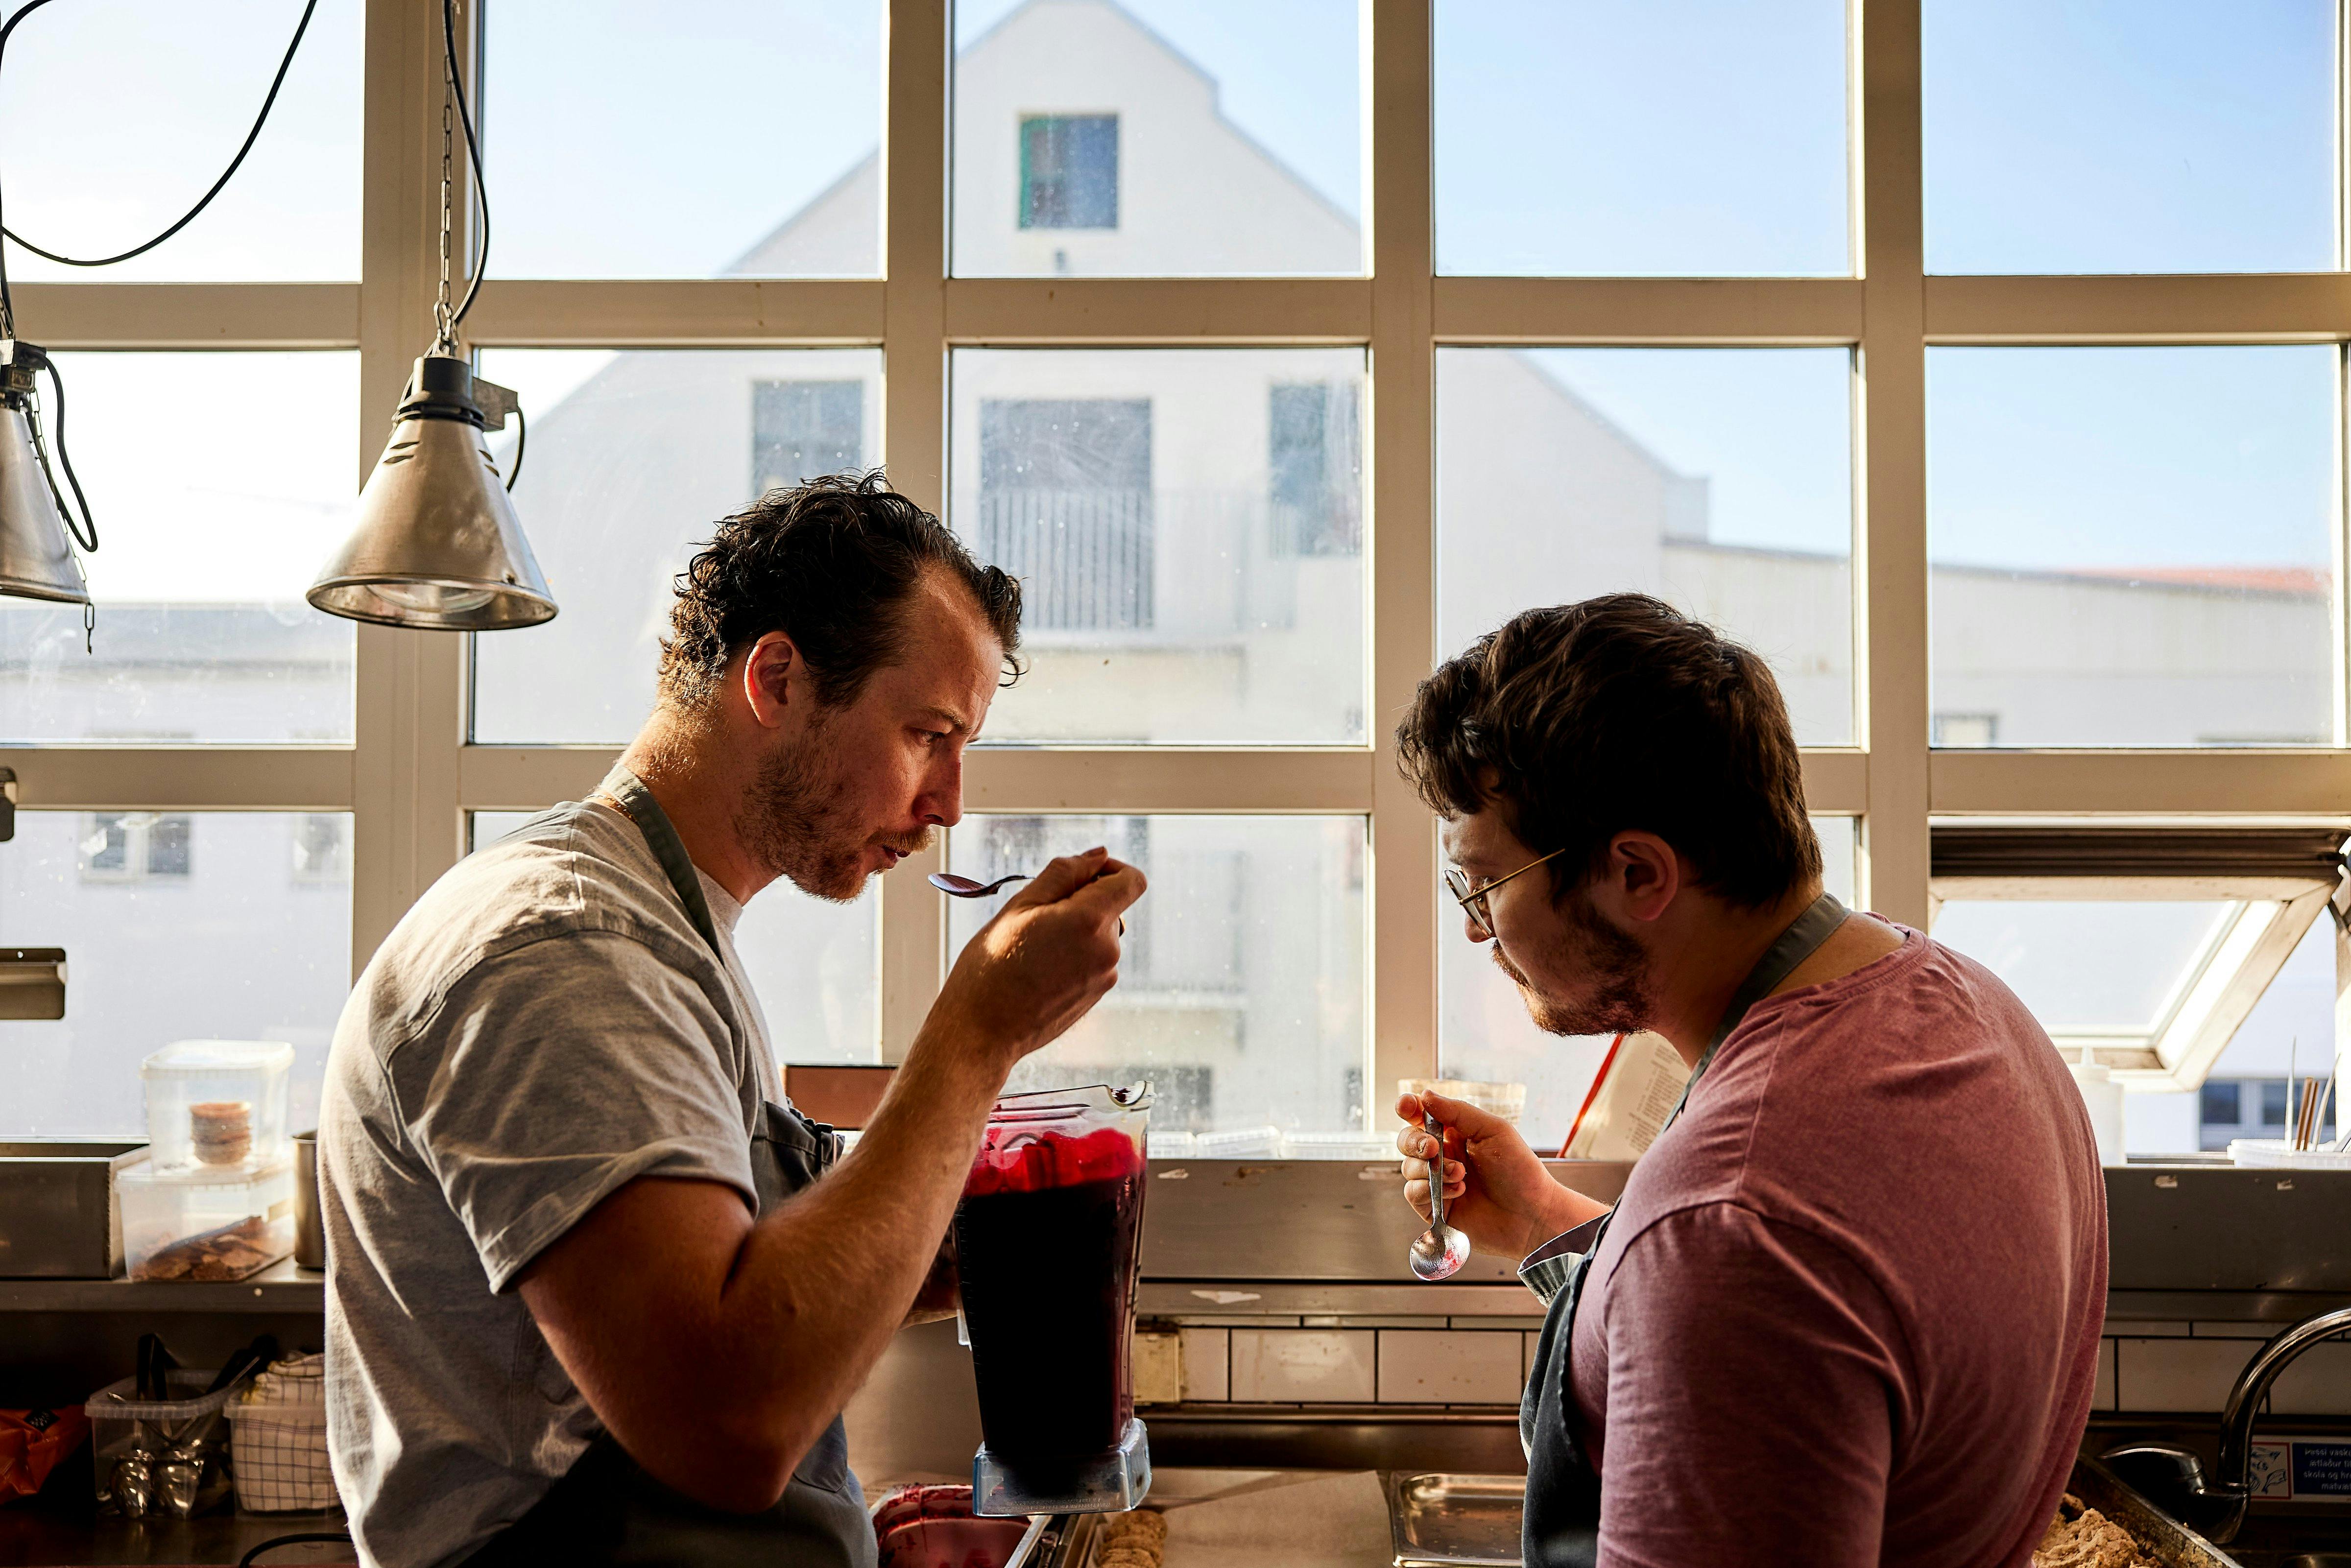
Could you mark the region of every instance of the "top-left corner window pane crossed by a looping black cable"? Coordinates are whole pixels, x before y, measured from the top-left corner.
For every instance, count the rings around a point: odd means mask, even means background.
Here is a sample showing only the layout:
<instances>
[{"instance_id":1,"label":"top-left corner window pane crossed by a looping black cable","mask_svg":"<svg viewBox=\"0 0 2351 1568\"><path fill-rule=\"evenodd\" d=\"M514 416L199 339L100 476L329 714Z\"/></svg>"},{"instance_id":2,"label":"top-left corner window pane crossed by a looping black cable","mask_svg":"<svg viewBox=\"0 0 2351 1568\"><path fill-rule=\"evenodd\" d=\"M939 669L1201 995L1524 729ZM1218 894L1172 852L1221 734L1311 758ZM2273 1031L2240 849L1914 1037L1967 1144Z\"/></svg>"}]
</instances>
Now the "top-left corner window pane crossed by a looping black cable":
<instances>
[{"instance_id":1,"label":"top-left corner window pane crossed by a looping black cable","mask_svg":"<svg viewBox=\"0 0 2351 1568\"><path fill-rule=\"evenodd\" d=\"M54 5L9 40L7 223L115 256L176 223L261 113L303 0ZM21 5L0 5L16 14ZM310 16L270 122L188 228L99 273L9 247L12 282L322 282L360 275L360 12ZM47 343L26 317L26 336Z\"/></svg>"}]
</instances>

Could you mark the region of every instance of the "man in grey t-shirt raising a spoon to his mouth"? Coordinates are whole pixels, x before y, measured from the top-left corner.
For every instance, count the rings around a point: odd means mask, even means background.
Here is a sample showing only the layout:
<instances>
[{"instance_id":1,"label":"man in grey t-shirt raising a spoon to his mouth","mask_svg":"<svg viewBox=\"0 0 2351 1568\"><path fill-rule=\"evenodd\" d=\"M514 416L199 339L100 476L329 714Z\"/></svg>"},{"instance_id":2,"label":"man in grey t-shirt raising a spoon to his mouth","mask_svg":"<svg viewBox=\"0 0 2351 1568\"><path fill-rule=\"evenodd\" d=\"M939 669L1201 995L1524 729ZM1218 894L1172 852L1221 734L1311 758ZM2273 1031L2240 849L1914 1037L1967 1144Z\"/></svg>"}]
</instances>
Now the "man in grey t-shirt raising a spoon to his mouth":
<instances>
[{"instance_id":1,"label":"man in grey t-shirt raising a spoon to his mouth","mask_svg":"<svg viewBox=\"0 0 2351 1568\"><path fill-rule=\"evenodd\" d=\"M781 1103L734 924L955 825L1020 590L851 475L724 520L670 625L597 792L428 889L336 1027L327 1418L367 1563L870 1568L842 1406L952 1302L1006 1074L1117 980L1140 872L1053 860L839 1157Z\"/></svg>"}]
</instances>

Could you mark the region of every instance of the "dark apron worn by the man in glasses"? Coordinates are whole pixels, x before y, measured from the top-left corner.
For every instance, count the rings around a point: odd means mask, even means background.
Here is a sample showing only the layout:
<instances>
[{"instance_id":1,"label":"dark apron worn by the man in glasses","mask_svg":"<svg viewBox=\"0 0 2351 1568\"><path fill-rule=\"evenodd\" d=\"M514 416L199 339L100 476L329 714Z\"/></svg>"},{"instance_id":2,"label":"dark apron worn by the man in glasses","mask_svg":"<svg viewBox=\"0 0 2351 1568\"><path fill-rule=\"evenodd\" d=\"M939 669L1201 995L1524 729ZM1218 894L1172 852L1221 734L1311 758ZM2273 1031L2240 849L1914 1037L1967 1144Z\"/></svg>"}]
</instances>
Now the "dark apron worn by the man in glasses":
<instances>
[{"instance_id":1,"label":"dark apron worn by the man in glasses","mask_svg":"<svg viewBox=\"0 0 2351 1568\"><path fill-rule=\"evenodd\" d=\"M1681 1117L1697 1079L1704 1077L1730 1030L1747 1018L1747 1009L1787 980L1841 924L1846 924L1846 905L1822 893L1756 959L1730 997L1730 1006L1723 1009L1723 1020L1714 1025L1714 1039L1697 1058L1697 1067L1665 1126L1674 1126L1674 1119ZM1665 1128L1657 1128L1657 1135L1665 1138ZM1542 1335L1535 1340L1535 1371L1519 1401L1519 1443L1526 1448L1526 1523L1521 1526L1519 1554L1526 1568L1587 1568L1599 1561L1601 1552L1601 1479L1592 1469L1582 1436L1578 1436L1570 1347L1575 1342L1575 1305L1585 1295L1592 1258L1601 1251L1601 1237L1608 1234L1613 1215L1615 1211L1608 1211L1568 1232L1575 1267L1542 1319Z\"/></svg>"}]
</instances>

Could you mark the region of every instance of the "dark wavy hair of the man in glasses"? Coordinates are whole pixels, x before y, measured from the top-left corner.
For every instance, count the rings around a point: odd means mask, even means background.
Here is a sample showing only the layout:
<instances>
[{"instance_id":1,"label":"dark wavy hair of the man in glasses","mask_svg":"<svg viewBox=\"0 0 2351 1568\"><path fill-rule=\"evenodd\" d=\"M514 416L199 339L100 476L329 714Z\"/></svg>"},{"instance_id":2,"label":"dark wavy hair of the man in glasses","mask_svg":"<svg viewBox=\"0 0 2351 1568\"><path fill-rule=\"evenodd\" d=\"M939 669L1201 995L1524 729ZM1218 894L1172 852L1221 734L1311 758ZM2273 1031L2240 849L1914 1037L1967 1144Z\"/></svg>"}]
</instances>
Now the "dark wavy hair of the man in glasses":
<instances>
[{"instance_id":1,"label":"dark wavy hair of the man in glasses","mask_svg":"<svg viewBox=\"0 0 2351 1568\"><path fill-rule=\"evenodd\" d=\"M1500 806L1585 886L1625 830L1761 910L1820 877L1803 764L1763 658L1639 592L1531 609L1436 668L1396 726L1404 776L1446 818Z\"/></svg>"}]
</instances>

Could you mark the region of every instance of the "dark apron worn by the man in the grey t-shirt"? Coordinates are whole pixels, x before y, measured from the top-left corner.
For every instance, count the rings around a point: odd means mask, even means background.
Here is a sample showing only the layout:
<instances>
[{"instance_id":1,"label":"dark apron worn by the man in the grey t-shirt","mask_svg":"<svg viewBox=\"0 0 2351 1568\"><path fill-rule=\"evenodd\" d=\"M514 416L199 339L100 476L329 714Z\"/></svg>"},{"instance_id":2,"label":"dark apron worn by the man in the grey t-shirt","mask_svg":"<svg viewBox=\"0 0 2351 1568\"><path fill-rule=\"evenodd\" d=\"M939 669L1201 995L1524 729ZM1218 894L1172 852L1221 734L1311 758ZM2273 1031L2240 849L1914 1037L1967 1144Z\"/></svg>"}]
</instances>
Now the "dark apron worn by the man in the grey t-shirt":
<instances>
[{"instance_id":1,"label":"dark apron worn by the man in the grey t-shirt","mask_svg":"<svg viewBox=\"0 0 2351 1568\"><path fill-rule=\"evenodd\" d=\"M710 903L670 818L635 773L614 771L604 795L644 832L694 929L724 969ZM764 1103L750 1140L759 1215L820 1178L837 1152L839 1140L830 1126L809 1121L788 1105ZM609 1432L600 1432L548 1495L468 1556L465 1568L875 1568L877 1559L865 1493L849 1474L849 1432L835 1415L792 1472L783 1497L759 1514L729 1514L663 1486Z\"/></svg>"}]
</instances>

